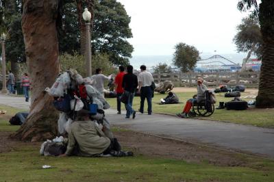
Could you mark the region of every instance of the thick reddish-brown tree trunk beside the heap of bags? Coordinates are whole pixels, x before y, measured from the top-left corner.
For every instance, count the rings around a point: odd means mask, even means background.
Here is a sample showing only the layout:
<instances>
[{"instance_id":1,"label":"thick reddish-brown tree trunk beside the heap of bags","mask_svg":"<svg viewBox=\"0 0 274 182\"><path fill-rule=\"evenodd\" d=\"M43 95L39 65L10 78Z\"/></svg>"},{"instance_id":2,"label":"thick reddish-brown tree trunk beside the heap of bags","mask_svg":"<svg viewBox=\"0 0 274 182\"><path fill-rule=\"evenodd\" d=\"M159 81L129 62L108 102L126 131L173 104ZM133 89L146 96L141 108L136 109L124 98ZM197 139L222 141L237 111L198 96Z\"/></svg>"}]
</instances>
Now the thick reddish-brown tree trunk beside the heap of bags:
<instances>
[{"instance_id":1,"label":"thick reddish-brown tree trunk beside the heap of bags","mask_svg":"<svg viewBox=\"0 0 274 182\"><path fill-rule=\"evenodd\" d=\"M24 125L13 135L32 142L53 138L58 134L58 113L51 96L43 90L58 75L57 0L23 1L22 29L25 53L32 83L32 105Z\"/></svg>"}]
</instances>

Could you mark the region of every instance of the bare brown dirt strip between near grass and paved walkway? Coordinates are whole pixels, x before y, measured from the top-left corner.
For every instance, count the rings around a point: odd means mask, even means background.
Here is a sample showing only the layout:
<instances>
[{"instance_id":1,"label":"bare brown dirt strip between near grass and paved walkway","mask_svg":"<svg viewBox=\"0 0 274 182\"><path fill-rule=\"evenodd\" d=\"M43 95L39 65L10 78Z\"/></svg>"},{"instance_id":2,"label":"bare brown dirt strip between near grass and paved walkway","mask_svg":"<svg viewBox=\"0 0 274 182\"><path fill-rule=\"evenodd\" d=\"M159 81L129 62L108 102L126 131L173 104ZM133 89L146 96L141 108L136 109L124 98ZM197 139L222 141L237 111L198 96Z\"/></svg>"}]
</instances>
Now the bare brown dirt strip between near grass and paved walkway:
<instances>
[{"instance_id":1,"label":"bare brown dirt strip between near grass and paved walkway","mask_svg":"<svg viewBox=\"0 0 274 182\"><path fill-rule=\"evenodd\" d=\"M247 166L247 160L237 157L236 153L204 145L199 146L188 142L159 138L136 131L118 131L114 135L123 147L131 148L135 153L149 157L194 162L208 161L210 164L218 166Z\"/></svg>"}]
</instances>

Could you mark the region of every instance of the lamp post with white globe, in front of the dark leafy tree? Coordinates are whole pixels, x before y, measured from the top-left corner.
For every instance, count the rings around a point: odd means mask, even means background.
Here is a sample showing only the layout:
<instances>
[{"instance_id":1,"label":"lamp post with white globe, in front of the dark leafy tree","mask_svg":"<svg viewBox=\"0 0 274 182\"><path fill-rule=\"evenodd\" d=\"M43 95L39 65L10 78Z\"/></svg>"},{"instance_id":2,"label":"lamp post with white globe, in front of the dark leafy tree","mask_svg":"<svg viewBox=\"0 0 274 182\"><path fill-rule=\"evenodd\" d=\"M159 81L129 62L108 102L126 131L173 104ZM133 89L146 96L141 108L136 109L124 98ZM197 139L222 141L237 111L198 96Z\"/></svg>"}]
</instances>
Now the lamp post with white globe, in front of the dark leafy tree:
<instances>
[{"instance_id":1,"label":"lamp post with white globe, in front of the dark leafy tree","mask_svg":"<svg viewBox=\"0 0 274 182\"><path fill-rule=\"evenodd\" d=\"M88 8L85 8L83 12L84 21L86 21L86 74L91 77L91 47L90 47L90 19L91 14Z\"/></svg>"}]
</instances>

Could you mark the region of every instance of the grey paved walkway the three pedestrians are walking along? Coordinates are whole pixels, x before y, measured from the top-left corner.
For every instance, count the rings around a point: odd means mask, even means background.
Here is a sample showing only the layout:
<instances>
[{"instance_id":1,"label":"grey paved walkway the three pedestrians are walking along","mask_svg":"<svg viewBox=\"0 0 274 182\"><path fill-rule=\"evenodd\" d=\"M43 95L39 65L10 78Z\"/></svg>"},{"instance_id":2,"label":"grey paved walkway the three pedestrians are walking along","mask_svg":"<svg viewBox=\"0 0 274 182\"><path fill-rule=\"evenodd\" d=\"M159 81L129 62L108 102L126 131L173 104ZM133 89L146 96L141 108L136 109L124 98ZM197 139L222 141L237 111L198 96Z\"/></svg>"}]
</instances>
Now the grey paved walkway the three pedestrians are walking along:
<instances>
[{"instance_id":1,"label":"grey paved walkway the three pedestrians are walking along","mask_svg":"<svg viewBox=\"0 0 274 182\"><path fill-rule=\"evenodd\" d=\"M0 95L0 104L29 108L23 98ZM125 113L106 110L112 125L127 125L134 131L165 135L190 142L203 142L236 151L258 153L274 158L274 129L236 125L211 120L183 119L162 114L137 114L133 120L125 119Z\"/></svg>"}]
</instances>

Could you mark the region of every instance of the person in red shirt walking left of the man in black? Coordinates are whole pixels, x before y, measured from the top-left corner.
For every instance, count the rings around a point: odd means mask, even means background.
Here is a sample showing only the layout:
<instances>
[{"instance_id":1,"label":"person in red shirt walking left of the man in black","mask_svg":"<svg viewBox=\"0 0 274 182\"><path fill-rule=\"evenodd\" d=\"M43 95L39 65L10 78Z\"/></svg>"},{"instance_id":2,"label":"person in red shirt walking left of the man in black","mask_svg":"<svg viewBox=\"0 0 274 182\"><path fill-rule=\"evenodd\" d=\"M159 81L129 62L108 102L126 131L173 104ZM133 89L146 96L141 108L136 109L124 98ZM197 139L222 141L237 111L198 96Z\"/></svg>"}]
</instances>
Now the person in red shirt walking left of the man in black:
<instances>
[{"instance_id":1,"label":"person in red shirt walking left of the man in black","mask_svg":"<svg viewBox=\"0 0 274 182\"><path fill-rule=\"evenodd\" d=\"M119 66L119 73L115 77L116 97L117 97L117 114L121 114L120 97L124 92L124 89L123 89L123 86L122 86L124 75L125 75L125 67L124 66Z\"/></svg>"}]
</instances>

